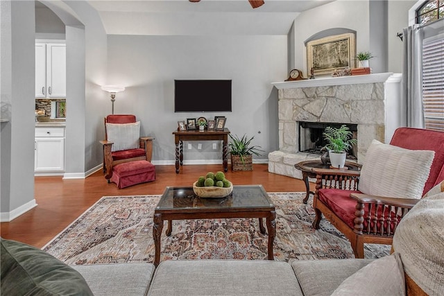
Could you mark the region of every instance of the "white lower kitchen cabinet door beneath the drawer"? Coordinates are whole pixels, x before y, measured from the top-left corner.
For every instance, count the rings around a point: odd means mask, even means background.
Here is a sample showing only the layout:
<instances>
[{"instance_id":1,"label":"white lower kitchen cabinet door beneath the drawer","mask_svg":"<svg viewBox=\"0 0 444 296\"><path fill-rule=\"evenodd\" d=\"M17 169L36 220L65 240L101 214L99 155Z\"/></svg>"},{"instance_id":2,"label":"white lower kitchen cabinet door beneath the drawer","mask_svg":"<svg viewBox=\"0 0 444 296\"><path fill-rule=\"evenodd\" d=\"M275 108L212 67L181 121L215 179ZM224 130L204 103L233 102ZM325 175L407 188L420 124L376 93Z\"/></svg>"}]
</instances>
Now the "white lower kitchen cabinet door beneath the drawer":
<instances>
[{"instance_id":1,"label":"white lower kitchen cabinet door beneath the drawer","mask_svg":"<svg viewBox=\"0 0 444 296\"><path fill-rule=\"evenodd\" d=\"M65 171L65 139L35 138L35 171Z\"/></svg>"}]
</instances>

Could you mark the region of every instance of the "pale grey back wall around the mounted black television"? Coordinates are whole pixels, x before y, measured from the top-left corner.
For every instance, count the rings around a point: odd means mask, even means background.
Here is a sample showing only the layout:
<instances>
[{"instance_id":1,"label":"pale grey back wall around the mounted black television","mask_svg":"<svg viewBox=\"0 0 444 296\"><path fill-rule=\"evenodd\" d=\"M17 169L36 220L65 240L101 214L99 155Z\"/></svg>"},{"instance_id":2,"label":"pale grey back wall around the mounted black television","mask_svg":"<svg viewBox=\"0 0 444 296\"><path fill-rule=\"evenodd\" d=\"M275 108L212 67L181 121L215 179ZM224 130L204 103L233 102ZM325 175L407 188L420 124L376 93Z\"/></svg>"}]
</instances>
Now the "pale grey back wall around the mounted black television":
<instances>
[{"instance_id":1,"label":"pale grey back wall around the mounted black television","mask_svg":"<svg viewBox=\"0 0 444 296\"><path fill-rule=\"evenodd\" d=\"M177 121L226 116L226 128L254 136L262 157L278 148L278 96L271 82L287 78L287 36L108 36L108 84L126 86L114 113L135 114L142 133L155 137L153 162L172 164ZM232 79L233 112L174 113L174 79ZM211 96L211 94L209 94ZM103 105L108 112L111 103ZM103 124L102 124L103 125ZM221 162L212 141L185 147L184 161ZM206 159L206 160L205 160ZM159 163L159 162L157 162Z\"/></svg>"}]
</instances>

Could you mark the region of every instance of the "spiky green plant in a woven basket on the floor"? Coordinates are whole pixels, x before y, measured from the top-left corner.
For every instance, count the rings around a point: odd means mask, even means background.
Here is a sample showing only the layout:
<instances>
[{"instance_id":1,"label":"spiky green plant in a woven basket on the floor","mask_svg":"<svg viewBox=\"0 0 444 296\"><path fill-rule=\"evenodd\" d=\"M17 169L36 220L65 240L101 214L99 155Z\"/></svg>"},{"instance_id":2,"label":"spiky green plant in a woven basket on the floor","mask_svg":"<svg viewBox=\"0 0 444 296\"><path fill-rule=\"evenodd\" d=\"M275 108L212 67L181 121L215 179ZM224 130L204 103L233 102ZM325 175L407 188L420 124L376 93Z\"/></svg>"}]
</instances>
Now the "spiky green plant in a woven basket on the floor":
<instances>
[{"instance_id":1,"label":"spiky green plant in a woven basket on the floor","mask_svg":"<svg viewBox=\"0 0 444 296\"><path fill-rule=\"evenodd\" d=\"M253 171L253 155L259 156L259 152L264 152L264 150L259 149L260 146L251 145L251 141L255 137L248 139L245 134L241 138L232 134L229 136L228 147L230 148L232 171Z\"/></svg>"}]
</instances>

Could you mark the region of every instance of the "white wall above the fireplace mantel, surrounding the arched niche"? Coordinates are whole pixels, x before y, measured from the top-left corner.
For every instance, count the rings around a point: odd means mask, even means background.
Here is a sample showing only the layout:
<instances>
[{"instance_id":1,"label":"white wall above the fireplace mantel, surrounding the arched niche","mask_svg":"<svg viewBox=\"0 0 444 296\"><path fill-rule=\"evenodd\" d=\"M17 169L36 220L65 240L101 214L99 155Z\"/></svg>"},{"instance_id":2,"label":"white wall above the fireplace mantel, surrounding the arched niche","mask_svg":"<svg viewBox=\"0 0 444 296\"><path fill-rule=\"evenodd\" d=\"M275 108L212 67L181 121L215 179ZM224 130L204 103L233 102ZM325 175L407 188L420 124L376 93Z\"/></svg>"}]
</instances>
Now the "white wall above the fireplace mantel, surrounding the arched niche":
<instances>
[{"instance_id":1,"label":"white wall above the fireplace mantel, surrounding the arched niche","mask_svg":"<svg viewBox=\"0 0 444 296\"><path fill-rule=\"evenodd\" d=\"M418 1L338 0L302 12L294 21L295 67L307 75L304 42L312 35L330 28L356 31L356 50L372 51L374 73L402 72L402 41L396 33L409 26L409 9Z\"/></svg>"}]
</instances>

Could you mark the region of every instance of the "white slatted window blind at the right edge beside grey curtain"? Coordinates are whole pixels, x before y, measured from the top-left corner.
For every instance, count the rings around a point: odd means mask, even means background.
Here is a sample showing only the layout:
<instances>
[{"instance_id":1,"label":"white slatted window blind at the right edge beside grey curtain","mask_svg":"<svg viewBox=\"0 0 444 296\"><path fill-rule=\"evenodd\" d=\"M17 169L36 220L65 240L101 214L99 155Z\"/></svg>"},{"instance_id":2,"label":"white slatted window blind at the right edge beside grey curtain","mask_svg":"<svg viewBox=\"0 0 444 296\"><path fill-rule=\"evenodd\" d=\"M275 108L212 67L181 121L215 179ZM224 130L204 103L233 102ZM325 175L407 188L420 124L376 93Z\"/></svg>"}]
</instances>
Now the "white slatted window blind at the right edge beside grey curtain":
<instances>
[{"instance_id":1,"label":"white slatted window blind at the right edge beside grey curtain","mask_svg":"<svg viewBox=\"0 0 444 296\"><path fill-rule=\"evenodd\" d=\"M422 44L425 128L444 132L444 37Z\"/></svg>"}]
</instances>

